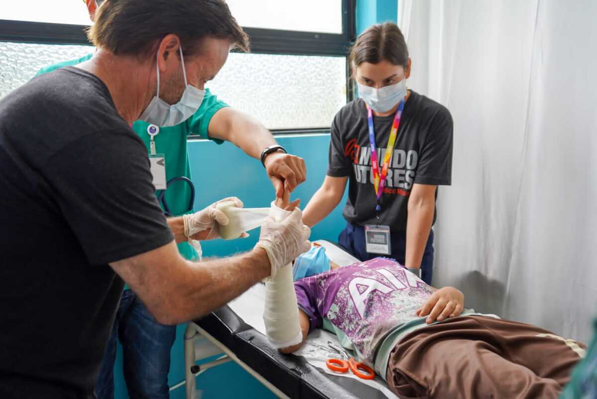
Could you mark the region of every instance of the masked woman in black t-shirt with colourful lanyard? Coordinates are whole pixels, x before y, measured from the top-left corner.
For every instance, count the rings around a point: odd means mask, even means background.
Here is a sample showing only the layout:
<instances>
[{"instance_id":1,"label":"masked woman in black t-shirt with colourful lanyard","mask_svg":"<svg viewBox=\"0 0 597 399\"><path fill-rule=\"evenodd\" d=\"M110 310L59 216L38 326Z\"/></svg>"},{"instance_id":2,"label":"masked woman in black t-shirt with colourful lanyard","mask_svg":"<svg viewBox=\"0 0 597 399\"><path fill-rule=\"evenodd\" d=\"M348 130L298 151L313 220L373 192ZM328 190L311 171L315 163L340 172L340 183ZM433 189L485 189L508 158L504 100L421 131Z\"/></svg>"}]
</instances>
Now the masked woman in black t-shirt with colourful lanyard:
<instances>
[{"instance_id":1,"label":"masked woman in black t-shirt with colourful lanyard","mask_svg":"<svg viewBox=\"0 0 597 399\"><path fill-rule=\"evenodd\" d=\"M334 117L327 176L303 221L324 219L349 182L340 245L361 260L393 257L430 284L437 186L451 183L450 112L407 90L411 59L395 24L361 33L350 63L361 98Z\"/></svg>"}]
</instances>

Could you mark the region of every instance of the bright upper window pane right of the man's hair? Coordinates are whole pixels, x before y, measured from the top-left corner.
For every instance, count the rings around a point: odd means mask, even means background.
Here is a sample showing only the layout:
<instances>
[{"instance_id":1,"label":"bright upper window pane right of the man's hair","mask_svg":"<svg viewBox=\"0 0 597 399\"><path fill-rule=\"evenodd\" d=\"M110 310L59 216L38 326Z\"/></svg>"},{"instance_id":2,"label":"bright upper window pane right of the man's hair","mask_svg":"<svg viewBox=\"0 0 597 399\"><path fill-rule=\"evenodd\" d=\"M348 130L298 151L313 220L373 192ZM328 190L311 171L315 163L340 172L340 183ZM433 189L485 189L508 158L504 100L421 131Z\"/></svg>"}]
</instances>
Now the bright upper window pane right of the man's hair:
<instances>
[{"instance_id":1,"label":"bright upper window pane right of the man's hair","mask_svg":"<svg viewBox=\"0 0 597 399\"><path fill-rule=\"evenodd\" d=\"M241 26L342 33L342 0L227 0Z\"/></svg>"}]
</instances>

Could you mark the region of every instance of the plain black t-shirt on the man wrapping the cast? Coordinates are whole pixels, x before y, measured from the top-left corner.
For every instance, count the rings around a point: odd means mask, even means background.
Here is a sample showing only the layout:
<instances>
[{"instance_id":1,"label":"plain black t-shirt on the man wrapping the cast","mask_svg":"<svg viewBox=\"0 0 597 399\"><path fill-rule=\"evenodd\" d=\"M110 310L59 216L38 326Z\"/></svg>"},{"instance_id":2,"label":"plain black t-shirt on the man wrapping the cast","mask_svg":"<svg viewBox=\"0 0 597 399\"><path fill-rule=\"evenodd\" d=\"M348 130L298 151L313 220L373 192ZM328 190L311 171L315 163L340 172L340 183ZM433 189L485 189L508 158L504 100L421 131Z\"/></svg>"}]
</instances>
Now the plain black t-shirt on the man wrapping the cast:
<instances>
[{"instance_id":1,"label":"plain black t-shirt on the man wrapping the cast","mask_svg":"<svg viewBox=\"0 0 597 399\"><path fill-rule=\"evenodd\" d=\"M141 139L65 67L0 100L0 398L92 398L124 282L173 240Z\"/></svg>"}]
</instances>

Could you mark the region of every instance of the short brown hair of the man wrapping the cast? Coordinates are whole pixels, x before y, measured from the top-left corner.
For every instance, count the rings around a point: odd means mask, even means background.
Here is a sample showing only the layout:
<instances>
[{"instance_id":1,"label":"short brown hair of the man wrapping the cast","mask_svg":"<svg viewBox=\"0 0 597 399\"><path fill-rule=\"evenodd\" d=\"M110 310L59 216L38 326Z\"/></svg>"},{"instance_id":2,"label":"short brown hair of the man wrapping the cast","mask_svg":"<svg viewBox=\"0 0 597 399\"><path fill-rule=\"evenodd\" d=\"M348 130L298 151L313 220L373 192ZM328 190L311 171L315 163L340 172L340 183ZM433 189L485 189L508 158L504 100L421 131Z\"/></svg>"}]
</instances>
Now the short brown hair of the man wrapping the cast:
<instances>
[{"instance_id":1,"label":"short brown hair of the man wrapping the cast","mask_svg":"<svg viewBox=\"0 0 597 399\"><path fill-rule=\"evenodd\" d=\"M207 37L249 49L247 33L223 0L107 0L87 36L113 54L147 57L169 33L179 36L184 54L199 53Z\"/></svg>"}]
</instances>

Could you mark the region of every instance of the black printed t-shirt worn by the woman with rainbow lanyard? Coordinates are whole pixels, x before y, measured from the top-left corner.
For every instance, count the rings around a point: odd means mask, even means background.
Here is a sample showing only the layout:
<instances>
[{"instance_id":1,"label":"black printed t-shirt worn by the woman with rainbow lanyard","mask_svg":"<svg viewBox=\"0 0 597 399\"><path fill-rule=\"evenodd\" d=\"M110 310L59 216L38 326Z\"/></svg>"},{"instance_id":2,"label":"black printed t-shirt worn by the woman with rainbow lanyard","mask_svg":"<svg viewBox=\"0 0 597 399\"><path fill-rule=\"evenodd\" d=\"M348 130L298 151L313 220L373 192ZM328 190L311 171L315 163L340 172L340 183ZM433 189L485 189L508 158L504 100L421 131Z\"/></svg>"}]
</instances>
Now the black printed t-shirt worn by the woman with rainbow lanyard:
<instances>
[{"instance_id":1,"label":"black printed t-shirt worn by the woman with rainbow lanyard","mask_svg":"<svg viewBox=\"0 0 597 399\"><path fill-rule=\"evenodd\" d=\"M410 93L390 159L386 188L381 195L379 220L365 102L356 99L348 103L332 122L327 174L349 176L348 201L343 215L350 223L360 226L378 223L390 226L391 231L404 232L413 185L451 183L453 121L450 111L413 90ZM373 117L380 173L393 119L393 114Z\"/></svg>"}]
</instances>

